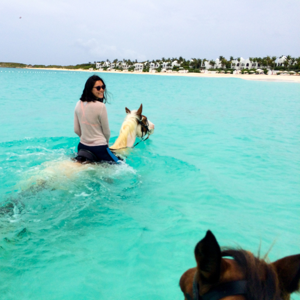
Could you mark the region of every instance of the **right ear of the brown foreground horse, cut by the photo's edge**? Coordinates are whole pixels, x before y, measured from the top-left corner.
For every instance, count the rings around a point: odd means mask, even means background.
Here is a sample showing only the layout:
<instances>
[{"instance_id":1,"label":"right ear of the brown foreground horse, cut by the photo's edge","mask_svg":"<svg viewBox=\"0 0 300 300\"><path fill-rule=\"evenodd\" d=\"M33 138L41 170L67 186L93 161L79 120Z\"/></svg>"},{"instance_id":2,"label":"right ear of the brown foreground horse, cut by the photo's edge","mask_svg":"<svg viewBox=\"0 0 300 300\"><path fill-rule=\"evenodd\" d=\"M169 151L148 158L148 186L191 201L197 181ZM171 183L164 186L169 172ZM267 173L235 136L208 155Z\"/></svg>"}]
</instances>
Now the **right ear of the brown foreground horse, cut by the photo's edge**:
<instances>
[{"instance_id":1,"label":"right ear of the brown foreground horse, cut by the photo's edge","mask_svg":"<svg viewBox=\"0 0 300 300\"><path fill-rule=\"evenodd\" d=\"M300 289L300 254L283 257L272 265L277 271L283 292L292 293Z\"/></svg>"}]
</instances>

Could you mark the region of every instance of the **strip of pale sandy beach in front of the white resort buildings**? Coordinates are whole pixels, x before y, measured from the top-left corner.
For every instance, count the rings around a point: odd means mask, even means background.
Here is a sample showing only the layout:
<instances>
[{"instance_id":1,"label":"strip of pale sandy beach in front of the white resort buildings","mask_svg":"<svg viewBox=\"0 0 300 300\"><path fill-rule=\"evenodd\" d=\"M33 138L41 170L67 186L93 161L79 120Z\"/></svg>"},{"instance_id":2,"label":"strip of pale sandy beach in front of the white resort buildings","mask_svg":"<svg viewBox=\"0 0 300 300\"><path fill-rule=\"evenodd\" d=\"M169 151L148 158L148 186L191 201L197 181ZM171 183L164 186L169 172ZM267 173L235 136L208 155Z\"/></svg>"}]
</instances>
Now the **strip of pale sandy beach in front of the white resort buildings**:
<instances>
[{"instance_id":1,"label":"strip of pale sandy beach in front of the white resort buildings","mask_svg":"<svg viewBox=\"0 0 300 300\"><path fill-rule=\"evenodd\" d=\"M62 68L17 68L23 70L53 70L53 71L74 71L74 72L92 72L92 73L116 73L116 74L144 74L159 76L187 76L187 77L214 77L214 78L241 78L253 81L273 81L273 82L298 82L300 76L295 75L265 75L265 74L221 74L221 73L149 73L149 72L116 72L100 70L83 70L83 69L62 69Z\"/></svg>"}]
</instances>

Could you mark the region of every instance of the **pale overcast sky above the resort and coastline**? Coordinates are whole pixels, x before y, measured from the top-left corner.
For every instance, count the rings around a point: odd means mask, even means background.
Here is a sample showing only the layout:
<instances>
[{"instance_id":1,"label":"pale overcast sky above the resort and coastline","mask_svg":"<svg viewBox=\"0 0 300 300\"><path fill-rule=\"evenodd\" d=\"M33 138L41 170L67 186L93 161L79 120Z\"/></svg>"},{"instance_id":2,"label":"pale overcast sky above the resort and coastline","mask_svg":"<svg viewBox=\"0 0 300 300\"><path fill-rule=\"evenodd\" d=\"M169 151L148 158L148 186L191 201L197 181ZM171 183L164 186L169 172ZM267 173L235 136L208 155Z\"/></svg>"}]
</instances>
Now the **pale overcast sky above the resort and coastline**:
<instances>
[{"instance_id":1,"label":"pale overcast sky above the resort and coastline","mask_svg":"<svg viewBox=\"0 0 300 300\"><path fill-rule=\"evenodd\" d=\"M299 0L1 0L0 61L298 57L299 12Z\"/></svg>"}]
</instances>

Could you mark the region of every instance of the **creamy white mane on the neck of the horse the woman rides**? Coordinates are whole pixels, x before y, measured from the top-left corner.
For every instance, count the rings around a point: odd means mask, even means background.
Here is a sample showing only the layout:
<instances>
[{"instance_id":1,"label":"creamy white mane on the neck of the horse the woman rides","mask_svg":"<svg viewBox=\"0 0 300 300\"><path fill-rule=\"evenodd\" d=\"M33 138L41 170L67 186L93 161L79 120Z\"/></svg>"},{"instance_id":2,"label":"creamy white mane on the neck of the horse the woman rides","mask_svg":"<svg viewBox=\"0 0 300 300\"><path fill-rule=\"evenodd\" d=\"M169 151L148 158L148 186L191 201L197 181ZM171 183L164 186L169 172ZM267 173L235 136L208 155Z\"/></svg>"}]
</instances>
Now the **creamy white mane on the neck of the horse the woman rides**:
<instances>
[{"instance_id":1,"label":"creamy white mane on the neck of the horse the woman rides","mask_svg":"<svg viewBox=\"0 0 300 300\"><path fill-rule=\"evenodd\" d=\"M124 122L120 129L119 137L116 139L113 146L110 149L120 149L127 146L128 134L132 134L137 128L137 110L132 110L124 119Z\"/></svg>"}]
</instances>

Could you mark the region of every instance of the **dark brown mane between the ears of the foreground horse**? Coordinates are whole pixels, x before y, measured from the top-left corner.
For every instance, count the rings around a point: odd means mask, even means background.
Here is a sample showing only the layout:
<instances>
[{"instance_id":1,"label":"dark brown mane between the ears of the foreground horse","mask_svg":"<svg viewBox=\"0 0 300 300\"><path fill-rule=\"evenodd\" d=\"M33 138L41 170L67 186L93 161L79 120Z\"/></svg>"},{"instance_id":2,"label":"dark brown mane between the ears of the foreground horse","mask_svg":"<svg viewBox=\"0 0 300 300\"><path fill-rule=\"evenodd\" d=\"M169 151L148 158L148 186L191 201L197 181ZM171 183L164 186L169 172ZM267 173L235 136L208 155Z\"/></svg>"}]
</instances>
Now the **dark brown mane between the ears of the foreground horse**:
<instances>
[{"instance_id":1,"label":"dark brown mane between the ears of the foreground horse","mask_svg":"<svg viewBox=\"0 0 300 300\"><path fill-rule=\"evenodd\" d=\"M230 256L238 263L247 280L246 299L280 300L277 274L272 265L245 250L223 248L221 256Z\"/></svg>"}]
</instances>

